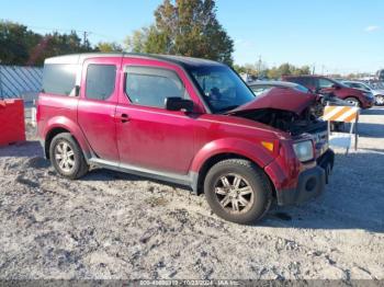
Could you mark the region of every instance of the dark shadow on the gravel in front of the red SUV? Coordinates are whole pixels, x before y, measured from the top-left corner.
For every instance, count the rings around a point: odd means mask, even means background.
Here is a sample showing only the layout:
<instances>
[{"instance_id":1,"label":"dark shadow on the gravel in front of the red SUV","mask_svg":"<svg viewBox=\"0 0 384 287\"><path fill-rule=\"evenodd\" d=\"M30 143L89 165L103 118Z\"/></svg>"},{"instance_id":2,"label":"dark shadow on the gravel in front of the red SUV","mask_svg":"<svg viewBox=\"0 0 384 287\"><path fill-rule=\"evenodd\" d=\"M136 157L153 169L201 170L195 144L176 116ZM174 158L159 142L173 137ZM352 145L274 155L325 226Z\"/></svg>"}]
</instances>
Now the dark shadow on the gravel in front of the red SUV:
<instances>
[{"instance_id":1,"label":"dark shadow on the gravel in front of the red SUV","mask_svg":"<svg viewBox=\"0 0 384 287\"><path fill-rule=\"evenodd\" d=\"M261 225L384 233L383 162L384 153L337 154L330 184L319 198L301 206L274 206Z\"/></svg>"}]
</instances>

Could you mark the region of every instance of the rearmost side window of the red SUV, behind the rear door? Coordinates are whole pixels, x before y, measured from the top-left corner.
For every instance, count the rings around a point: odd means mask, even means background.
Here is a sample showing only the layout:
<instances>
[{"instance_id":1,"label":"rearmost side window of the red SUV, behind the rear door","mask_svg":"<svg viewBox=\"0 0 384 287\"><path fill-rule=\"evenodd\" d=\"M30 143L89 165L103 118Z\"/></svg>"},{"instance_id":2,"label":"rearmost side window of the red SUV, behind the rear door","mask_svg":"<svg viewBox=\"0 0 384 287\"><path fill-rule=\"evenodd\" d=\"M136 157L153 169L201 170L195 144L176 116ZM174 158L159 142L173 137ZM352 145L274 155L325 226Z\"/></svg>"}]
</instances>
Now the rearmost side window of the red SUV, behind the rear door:
<instances>
[{"instance_id":1,"label":"rearmost side window of the red SUV, behind the rear door","mask_svg":"<svg viewBox=\"0 0 384 287\"><path fill-rule=\"evenodd\" d=\"M75 96L77 65L44 66L43 93Z\"/></svg>"}]
</instances>

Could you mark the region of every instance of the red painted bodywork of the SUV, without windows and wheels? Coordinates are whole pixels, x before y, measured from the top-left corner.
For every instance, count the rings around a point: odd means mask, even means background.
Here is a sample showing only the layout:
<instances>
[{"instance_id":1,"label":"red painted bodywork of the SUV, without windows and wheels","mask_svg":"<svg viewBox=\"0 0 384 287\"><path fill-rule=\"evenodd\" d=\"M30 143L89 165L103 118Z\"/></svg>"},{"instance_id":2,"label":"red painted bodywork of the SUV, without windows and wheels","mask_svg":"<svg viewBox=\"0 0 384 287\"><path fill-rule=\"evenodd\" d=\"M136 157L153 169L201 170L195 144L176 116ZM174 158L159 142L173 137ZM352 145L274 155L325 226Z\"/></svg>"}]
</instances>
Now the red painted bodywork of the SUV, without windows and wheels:
<instances>
[{"instance_id":1,"label":"red painted bodywork of the SUV, without windows and wheels","mask_svg":"<svg viewBox=\"0 0 384 287\"><path fill-rule=\"evenodd\" d=\"M86 99L86 76L90 64L116 66L115 90L106 101ZM38 136L45 141L57 128L68 130L79 142L87 160L98 157L154 171L199 175L210 159L229 153L258 164L279 191L294 188L300 172L316 165L316 160L309 163L297 160L292 148L293 139L284 131L242 117L207 113L196 88L178 65L123 56L88 58L80 65L79 96L41 93L37 123ZM124 69L127 66L174 71L194 102L194 111L185 113L133 104L125 94ZM279 96L281 93L289 95ZM290 97L290 101L284 97ZM272 106L301 113L310 101L314 101L312 95L298 91L273 89L268 96L239 110ZM272 142L273 150L267 149L262 141ZM45 142L46 151L47 145Z\"/></svg>"}]
</instances>

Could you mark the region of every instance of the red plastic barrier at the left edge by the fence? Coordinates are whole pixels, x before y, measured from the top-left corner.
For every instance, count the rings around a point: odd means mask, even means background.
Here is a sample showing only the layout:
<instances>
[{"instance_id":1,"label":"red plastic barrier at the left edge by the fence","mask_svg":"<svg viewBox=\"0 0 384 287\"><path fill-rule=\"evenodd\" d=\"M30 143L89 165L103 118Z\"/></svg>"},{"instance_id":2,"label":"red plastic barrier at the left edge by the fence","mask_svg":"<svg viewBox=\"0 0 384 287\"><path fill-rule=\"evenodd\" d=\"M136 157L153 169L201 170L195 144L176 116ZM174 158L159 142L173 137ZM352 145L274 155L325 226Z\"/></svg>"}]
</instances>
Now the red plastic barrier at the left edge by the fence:
<instances>
[{"instance_id":1,"label":"red plastic barrier at the left edge by the fence","mask_svg":"<svg viewBox=\"0 0 384 287\"><path fill-rule=\"evenodd\" d=\"M0 146L25 140L23 100L0 101Z\"/></svg>"}]
</instances>

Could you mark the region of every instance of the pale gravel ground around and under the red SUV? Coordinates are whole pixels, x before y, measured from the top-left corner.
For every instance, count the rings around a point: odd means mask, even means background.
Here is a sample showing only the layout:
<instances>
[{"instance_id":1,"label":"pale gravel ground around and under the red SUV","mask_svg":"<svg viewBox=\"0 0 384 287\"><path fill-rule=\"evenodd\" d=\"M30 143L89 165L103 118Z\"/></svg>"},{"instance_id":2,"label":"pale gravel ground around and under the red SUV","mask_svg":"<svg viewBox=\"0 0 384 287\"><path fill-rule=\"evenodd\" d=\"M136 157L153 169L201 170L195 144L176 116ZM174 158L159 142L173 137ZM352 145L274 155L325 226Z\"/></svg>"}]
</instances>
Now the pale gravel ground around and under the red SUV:
<instances>
[{"instance_id":1,"label":"pale gravel ground around and under the red SUV","mask_svg":"<svg viewBox=\"0 0 384 287\"><path fill-rule=\"evenodd\" d=\"M60 179L30 131L0 148L0 278L384 279L384 108L361 122L326 193L258 226L137 176Z\"/></svg>"}]
</instances>

